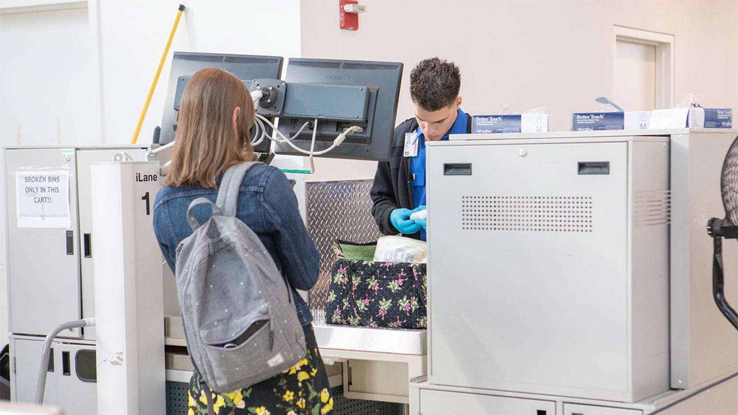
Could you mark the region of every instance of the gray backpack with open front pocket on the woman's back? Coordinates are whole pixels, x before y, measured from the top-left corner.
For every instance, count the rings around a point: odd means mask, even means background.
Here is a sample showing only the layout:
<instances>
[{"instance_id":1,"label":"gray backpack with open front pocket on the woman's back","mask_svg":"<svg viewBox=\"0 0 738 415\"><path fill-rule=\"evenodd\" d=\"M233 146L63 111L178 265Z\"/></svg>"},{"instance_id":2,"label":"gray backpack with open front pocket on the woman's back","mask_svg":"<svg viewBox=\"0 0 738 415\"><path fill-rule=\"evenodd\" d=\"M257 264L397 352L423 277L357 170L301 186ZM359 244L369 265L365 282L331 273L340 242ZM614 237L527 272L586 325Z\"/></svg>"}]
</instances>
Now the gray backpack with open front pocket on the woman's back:
<instances>
[{"instance_id":1,"label":"gray backpack with open front pocket on the woman's back","mask_svg":"<svg viewBox=\"0 0 738 415\"><path fill-rule=\"evenodd\" d=\"M306 353L292 288L258 236L235 217L241 182L256 164L229 168L215 204L204 197L190 203L193 233L176 251L187 350L201 380L218 393L269 379ZM204 224L192 213L201 204L213 208Z\"/></svg>"}]
</instances>

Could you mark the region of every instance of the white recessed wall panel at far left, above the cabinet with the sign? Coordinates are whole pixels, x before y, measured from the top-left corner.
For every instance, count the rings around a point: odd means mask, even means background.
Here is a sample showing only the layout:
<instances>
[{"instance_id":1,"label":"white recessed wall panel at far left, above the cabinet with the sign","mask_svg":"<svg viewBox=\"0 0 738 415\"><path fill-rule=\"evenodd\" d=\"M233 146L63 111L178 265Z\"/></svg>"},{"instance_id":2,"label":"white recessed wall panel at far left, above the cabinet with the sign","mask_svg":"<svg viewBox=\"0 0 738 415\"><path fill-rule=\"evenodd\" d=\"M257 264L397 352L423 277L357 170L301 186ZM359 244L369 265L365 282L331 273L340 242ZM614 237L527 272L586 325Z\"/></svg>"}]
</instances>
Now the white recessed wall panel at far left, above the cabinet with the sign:
<instances>
[{"instance_id":1,"label":"white recessed wall panel at far left, above the cabinet with the sign","mask_svg":"<svg viewBox=\"0 0 738 415\"><path fill-rule=\"evenodd\" d=\"M0 16L0 144L93 142L87 10Z\"/></svg>"}]
</instances>

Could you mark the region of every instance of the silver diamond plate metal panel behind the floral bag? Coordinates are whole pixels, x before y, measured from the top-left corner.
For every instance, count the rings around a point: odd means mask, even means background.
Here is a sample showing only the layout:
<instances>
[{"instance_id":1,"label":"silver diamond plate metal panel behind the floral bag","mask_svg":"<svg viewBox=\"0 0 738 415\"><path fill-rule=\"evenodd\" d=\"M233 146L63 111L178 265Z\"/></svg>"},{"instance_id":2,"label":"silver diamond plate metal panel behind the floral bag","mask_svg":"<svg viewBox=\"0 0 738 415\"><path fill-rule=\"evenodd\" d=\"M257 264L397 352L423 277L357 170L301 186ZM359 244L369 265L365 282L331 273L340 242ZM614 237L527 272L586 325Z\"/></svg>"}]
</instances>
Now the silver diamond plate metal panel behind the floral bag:
<instances>
[{"instance_id":1,"label":"silver diamond plate metal panel behind the floral bag","mask_svg":"<svg viewBox=\"0 0 738 415\"><path fill-rule=\"evenodd\" d=\"M320 253L320 274L310 290L308 304L315 324L323 324L323 306L328 295L336 239L352 242L376 241L382 233L371 216L369 191L373 180L306 183L308 231Z\"/></svg>"}]
</instances>

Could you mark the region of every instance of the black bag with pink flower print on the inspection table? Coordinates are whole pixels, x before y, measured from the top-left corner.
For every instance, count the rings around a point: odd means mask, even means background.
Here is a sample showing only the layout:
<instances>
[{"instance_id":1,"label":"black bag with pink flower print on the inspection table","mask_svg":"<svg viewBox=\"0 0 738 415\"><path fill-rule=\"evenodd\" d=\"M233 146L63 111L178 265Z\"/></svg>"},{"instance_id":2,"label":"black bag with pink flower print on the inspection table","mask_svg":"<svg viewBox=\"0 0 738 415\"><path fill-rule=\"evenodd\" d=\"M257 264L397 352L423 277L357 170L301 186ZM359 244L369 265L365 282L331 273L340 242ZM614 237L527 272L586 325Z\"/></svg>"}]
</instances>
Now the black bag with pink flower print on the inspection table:
<instances>
[{"instance_id":1,"label":"black bag with pink flower print on the inspection table","mask_svg":"<svg viewBox=\"0 0 738 415\"><path fill-rule=\"evenodd\" d=\"M331 270L325 322L424 329L426 264L374 262L373 248L376 243L334 243L336 262Z\"/></svg>"}]
</instances>

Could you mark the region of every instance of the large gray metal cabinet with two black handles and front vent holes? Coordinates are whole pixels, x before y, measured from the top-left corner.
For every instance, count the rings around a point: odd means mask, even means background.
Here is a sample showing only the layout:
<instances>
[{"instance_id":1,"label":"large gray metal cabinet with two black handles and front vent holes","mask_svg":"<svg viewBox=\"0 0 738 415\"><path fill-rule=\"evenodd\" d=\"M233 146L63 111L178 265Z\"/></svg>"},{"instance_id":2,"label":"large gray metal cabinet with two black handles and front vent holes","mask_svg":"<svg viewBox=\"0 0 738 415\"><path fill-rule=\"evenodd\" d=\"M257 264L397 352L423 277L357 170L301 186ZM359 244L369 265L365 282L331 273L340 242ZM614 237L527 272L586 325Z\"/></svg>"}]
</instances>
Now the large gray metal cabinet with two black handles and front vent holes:
<instances>
[{"instance_id":1,"label":"large gray metal cabinet with two black handles and front vent holes","mask_svg":"<svg viewBox=\"0 0 738 415\"><path fill-rule=\"evenodd\" d=\"M668 144L429 146L430 384L620 402L669 388Z\"/></svg>"}]
</instances>

